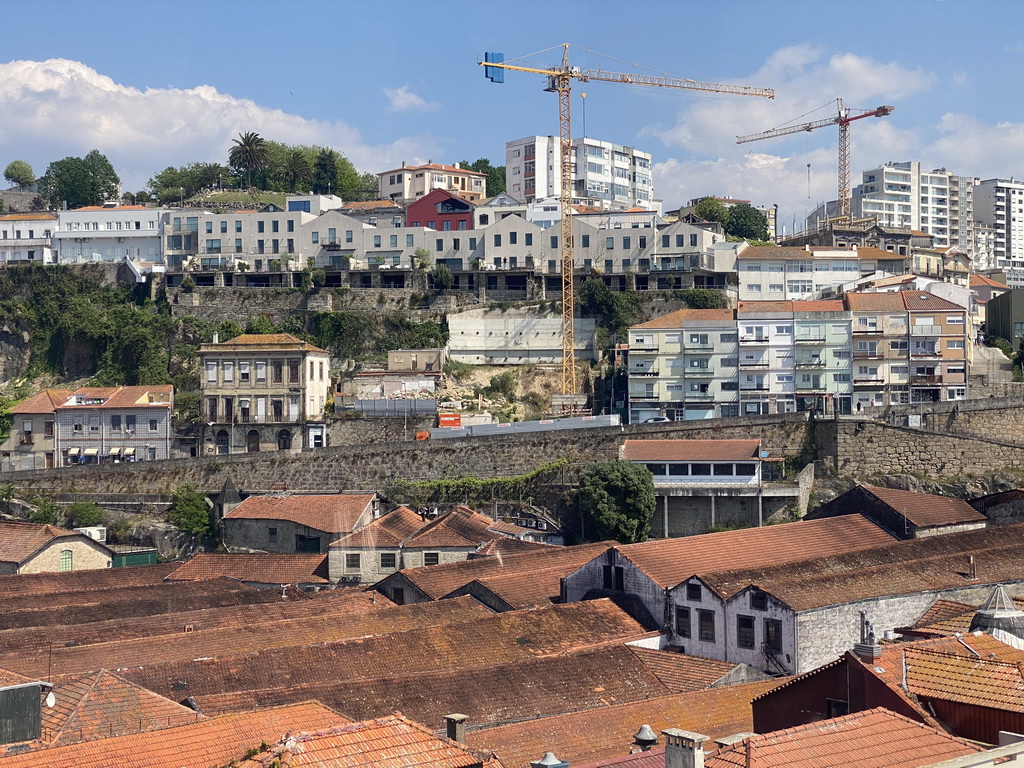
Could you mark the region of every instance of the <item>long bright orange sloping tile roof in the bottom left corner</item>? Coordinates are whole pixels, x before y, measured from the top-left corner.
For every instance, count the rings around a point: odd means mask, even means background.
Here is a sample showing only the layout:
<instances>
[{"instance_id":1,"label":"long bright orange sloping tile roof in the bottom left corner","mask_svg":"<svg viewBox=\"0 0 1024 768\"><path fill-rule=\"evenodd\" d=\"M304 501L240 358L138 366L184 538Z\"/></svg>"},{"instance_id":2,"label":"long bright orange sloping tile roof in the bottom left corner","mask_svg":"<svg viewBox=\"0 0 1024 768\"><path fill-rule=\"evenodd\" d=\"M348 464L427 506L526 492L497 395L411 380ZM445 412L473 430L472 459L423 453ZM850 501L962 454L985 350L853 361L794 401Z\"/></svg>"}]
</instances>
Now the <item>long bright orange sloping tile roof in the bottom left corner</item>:
<instances>
[{"instance_id":1,"label":"long bright orange sloping tile roof in the bottom left corner","mask_svg":"<svg viewBox=\"0 0 1024 768\"><path fill-rule=\"evenodd\" d=\"M191 725L97 739L0 759L3 768L181 768L226 765L291 731L348 722L315 701L227 715Z\"/></svg>"}]
</instances>

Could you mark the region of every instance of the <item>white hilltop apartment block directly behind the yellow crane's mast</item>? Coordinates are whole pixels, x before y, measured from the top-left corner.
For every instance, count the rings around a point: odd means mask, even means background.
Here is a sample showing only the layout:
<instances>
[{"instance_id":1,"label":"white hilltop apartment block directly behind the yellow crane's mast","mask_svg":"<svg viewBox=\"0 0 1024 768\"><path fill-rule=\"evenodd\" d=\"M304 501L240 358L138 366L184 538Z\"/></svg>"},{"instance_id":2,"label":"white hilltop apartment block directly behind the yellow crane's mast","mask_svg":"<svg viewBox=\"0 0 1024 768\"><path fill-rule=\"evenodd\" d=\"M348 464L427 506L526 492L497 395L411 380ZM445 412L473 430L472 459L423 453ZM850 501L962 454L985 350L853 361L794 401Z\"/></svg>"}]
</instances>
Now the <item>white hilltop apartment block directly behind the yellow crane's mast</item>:
<instances>
[{"instance_id":1,"label":"white hilltop apartment block directly behind the yellow crane's mast","mask_svg":"<svg viewBox=\"0 0 1024 768\"><path fill-rule=\"evenodd\" d=\"M505 188L534 203L561 196L557 136L527 136L505 144ZM657 207L650 153L595 138L572 140L572 202L627 210Z\"/></svg>"}]
</instances>

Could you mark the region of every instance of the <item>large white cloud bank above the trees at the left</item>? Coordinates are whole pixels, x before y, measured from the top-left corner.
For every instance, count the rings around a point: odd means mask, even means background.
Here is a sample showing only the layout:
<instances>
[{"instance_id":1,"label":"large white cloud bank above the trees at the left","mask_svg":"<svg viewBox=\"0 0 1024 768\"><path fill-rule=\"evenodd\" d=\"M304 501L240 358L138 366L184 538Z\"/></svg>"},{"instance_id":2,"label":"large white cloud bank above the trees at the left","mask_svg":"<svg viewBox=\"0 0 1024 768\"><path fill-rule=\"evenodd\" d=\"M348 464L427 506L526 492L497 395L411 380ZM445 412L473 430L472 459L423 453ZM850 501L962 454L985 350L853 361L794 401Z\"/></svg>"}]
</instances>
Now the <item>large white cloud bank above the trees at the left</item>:
<instances>
[{"instance_id":1,"label":"large white cloud bank above the trees at the left","mask_svg":"<svg viewBox=\"0 0 1024 768\"><path fill-rule=\"evenodd\" d=\"M37 174L53 160L98 148L126 188L141 188L169 165L223 162L241 131L333 146L362 171L438 154L426 137L373 145L342 121L310 120L208 85L140 90L79 61L0 63L0 160L25 159Z\"/></svg>"}]
</instances>

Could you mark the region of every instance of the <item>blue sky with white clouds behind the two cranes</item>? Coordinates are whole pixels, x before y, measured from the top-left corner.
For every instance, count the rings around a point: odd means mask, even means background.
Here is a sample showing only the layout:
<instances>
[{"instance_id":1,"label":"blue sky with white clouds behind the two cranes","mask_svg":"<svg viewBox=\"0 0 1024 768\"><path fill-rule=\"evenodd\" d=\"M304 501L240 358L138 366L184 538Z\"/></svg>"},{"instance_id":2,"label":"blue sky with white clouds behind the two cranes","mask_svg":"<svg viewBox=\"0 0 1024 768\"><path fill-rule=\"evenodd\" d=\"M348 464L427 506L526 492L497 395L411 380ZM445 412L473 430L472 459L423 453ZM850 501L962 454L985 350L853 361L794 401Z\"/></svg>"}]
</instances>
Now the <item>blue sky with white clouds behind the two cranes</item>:
<instances>
[{"instance_id":1,"label":"blue sky with white clouds behind the two cranes","mask_svg":"<svg viewBox=\"0 0 1024 768\"><path fill-rule=\"evenodd\" d=\"M361 172L487 158L558 133L544 77L488 82L485 51L584 69L772 88L774 99L575 83L573 135L651 153L672 210L714 195L793 222L837 197L839 131L737 135L891 104L851 126L853 182L886 162L1024 176L1024 3L1015 0L0 0L0 167L98 148L127 190L226 162L256 131L344 153ZM14 34L11 34L12 31ZM513 61L515 59L515 61ZM586 93L586 99L582 94Z\"/></svg>"}]
</instances>

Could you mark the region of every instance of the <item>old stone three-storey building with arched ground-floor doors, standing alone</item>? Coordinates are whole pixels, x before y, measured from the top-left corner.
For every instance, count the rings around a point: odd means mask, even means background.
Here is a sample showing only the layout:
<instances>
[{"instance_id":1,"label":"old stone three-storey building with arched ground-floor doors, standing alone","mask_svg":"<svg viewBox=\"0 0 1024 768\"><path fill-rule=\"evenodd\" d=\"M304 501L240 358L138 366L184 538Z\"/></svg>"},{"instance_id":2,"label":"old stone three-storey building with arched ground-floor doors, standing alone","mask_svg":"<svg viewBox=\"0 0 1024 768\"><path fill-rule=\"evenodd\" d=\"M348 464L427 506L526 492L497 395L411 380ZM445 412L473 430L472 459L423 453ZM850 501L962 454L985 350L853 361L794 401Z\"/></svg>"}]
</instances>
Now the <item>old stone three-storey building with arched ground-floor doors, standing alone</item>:
<instances>
[{"instance_id":1,"label":"old stone three-storey building with arched ground-floor doors, standing alone","mask_svg":"<svg viewBox=\"0 0 1024 768\"><path fill-rule=\"evenodd\" d=\"M297 451L327 444L330 355L288 334L203 344L204 454Z\"/></svg>"}]
</instances>

